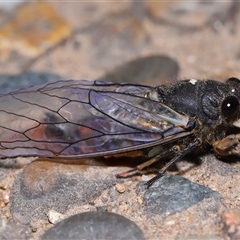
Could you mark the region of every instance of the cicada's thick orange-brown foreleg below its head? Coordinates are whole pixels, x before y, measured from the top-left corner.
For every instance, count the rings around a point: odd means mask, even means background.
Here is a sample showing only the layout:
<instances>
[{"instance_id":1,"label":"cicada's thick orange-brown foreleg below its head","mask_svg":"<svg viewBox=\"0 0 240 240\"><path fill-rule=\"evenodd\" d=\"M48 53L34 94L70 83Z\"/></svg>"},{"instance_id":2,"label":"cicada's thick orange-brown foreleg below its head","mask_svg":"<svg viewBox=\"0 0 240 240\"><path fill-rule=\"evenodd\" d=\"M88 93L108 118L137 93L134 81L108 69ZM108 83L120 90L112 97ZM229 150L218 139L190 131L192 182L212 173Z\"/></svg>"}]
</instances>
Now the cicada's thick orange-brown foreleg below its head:
<instances>
[{"instance_id":1,"label":"cicada's thick orange-brown foreleg below its head","mask_svg":"<svg viewBox=\"0 0 240 240\"><path fill-rule=\"evenodd\" d=\"M213 149L219 156L240 156L240 134L232 134L214 142Z\"/></svg>"}]
</instances>

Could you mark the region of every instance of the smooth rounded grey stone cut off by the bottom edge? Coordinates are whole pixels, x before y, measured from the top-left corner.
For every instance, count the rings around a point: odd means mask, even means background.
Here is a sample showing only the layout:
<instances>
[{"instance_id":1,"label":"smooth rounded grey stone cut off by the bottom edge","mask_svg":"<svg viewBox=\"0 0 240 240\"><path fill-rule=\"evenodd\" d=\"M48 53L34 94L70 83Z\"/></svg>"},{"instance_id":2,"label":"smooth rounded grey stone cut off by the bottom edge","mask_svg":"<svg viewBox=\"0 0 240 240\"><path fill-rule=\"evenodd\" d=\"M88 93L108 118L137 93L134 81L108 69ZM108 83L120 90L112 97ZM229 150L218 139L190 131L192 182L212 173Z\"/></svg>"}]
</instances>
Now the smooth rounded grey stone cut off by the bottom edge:
<instances>
[{"instance_id":1,"label":"smooth rounded grey stone cut off by the bottom edge","mask_svg":"<svg viewBox=\"0 0 240 240\"><path fill-rule=\"evenodd\" d=\"M144 240L145 237L134 222L121 215L109 212L85 212L62 220L48 229L40 239Z\"/></svg>"}]
</instances>

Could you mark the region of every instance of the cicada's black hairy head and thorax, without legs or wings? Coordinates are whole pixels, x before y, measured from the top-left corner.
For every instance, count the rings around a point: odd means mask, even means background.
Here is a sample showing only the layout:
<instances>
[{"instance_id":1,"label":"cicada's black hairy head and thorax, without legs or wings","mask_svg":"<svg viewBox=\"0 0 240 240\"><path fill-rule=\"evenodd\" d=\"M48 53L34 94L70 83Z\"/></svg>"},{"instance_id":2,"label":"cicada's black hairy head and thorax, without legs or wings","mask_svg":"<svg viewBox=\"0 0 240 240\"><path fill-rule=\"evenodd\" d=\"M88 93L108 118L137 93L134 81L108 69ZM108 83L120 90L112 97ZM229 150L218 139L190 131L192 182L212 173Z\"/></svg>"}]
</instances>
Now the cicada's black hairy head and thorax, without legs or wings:
<instances>
[{"instance_id":1,"label":"cicada's black hairy head and thorax, without legs or wings","mask_svg":"<svg viewBox=\"0 0 240 240\"><path fill-rule=\"evenodd\" d=\"M240 117L240 81L225 84L213 80L185 80L159 86L158 101L186 116L196 118L196 137L213 144L222 139Z\"/></svg>"}]
</instances>

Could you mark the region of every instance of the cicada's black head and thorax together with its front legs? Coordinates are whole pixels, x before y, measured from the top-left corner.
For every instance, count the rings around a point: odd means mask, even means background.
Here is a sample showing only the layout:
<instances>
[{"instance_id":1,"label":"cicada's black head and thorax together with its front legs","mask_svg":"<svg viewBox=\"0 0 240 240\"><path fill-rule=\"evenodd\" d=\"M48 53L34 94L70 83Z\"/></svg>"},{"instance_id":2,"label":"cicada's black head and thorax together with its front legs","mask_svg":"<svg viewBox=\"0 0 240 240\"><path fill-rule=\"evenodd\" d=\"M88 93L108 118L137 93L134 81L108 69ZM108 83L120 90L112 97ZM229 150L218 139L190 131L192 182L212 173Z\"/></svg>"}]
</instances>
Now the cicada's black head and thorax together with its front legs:
<instances>
[{"instance_id":1,"label":"cicada's black head and thorax together with its front legs","mask_svg":"<svg viewBox=\"0 0 240 240\"><path fill-rule=\"evenodd\" d=\"M213 146L215 152L221 156L240 155L240 134L231 135L231 141L229 137L225 138L227 131L233 126L239 127L240 123L239 79L230 78L226 83L190 79L170 86L158 86L156 89L157 94L149 94L151 99L195 119L192 122L192 135L186 137L186 145L181 146L181 157L191 152L192 148L204 148L205 145ZM174 158L148 184L151 185L178 159Z\"/></svg>"}]
</instances>

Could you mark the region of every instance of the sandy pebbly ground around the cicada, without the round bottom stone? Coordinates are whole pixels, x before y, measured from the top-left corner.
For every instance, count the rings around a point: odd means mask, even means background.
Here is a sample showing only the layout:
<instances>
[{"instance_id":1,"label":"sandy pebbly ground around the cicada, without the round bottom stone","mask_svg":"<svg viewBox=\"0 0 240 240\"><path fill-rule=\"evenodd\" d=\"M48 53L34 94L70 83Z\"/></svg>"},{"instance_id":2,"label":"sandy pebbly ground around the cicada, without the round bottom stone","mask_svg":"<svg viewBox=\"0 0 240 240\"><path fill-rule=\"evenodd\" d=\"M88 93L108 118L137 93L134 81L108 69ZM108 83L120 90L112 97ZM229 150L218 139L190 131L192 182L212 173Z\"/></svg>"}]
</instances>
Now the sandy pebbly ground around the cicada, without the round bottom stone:
<instances>
[{"instance_id":1,"label":"sandy pebbly ground around the cicada, without the round bottom stone","mask_svg":"<svg viewBox=\"0 0 240 240\"><path fill-rule=\"evenodd\" d=\"M1 10L0 23L1 92L56 79L159 85L238 77L237 1L24 3ZM56 218L93 211L137 224L133 239L239 239L240 163L211 153L196 158L179 162L149 189L143 182L153 175L117 179L129 166L115 161L88 167L6 159L0 236L38 239Z\"/></svg>"}]
</instances>

